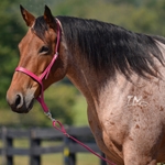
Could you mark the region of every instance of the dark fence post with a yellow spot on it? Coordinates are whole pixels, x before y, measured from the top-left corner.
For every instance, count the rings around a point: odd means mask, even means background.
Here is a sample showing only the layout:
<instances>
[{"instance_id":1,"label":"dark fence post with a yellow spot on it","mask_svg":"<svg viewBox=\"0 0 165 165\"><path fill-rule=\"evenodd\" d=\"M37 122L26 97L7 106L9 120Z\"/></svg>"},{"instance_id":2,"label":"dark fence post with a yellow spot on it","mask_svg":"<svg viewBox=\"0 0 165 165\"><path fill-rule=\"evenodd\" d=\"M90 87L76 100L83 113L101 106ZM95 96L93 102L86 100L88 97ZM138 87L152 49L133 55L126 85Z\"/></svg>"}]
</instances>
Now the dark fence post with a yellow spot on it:
<instances>
[{"instance_id":1,"label":"dark fence post with a yellow spot on it","mask_svg":"<svg viewBox=\"0 0 165 165\"><path fill-rule=\"evenodd\" d=\"M64 165L76 165L76 154L70 153L69 143L73 141L64 136Z\"/></svg>"}]
</instances>

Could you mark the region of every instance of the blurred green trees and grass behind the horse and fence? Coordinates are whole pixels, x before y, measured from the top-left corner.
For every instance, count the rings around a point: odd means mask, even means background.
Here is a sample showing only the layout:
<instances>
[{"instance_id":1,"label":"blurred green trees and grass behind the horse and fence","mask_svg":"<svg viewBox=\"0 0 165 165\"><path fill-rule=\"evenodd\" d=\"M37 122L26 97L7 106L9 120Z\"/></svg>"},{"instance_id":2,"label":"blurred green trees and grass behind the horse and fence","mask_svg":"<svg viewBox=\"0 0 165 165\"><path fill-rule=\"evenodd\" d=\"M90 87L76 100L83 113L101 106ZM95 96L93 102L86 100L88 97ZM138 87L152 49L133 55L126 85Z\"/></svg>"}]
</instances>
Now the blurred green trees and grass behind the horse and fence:
<instances>
[{"instance_id":1,"label":"blurred green trees and grass behind the horse and fence","mask_svg":"<svg viewBox=\"0 0 165 165\"><path fill-rule=\"evenodd\" d=\"M36 16L42 15L47 4L54 16L70 15L85 19L97 19L123 26L130 31L165 36L165 0L1 0L0 1L0 128L50 128L52 123L44 116L36 102L28 114L16 114L10 110L6 101L6 92L10 85L14 68L19 62L18 44L25 35L28 28L20 13L20 4ZM53 117L66 125L88 125L86 100L81 94L65 78L52 85L45 92L45 101ZM23 144L22 144L23 143ZM21 141L16 146L28 145ZM0 146L3 145L0 143ZM54 156L53 156L54 157ZM81 160L97 164L92 156ZM1 158L1 157L0 157ZM61 155L55 157L62 160ZM28 158L16 165L28 164ZM43 158L44 160L44 158ZM46 165L52 165L53 162ZM0 162L1 164L1 162ZM56 164L56 163L55 163ZM59 163L61 164L61 163ZM58 164L58 165L59 165ZM2 164L3 165L3 164Z\"/></svg>"}]
</instances>

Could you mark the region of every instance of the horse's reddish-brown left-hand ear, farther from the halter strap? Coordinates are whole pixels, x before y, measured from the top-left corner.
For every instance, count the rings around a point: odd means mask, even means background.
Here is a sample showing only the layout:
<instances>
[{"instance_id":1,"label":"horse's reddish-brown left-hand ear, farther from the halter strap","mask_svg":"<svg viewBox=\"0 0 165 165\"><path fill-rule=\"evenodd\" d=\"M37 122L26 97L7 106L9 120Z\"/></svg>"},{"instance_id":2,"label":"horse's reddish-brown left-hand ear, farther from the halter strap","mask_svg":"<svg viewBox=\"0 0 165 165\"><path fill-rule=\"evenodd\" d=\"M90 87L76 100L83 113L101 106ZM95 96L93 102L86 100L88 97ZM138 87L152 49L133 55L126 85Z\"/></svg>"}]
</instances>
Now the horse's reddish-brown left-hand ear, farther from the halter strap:
<instances>
[{"instance_id":1,"label":"horse's reddish-brown left-hand ear, farther from the halter strap","mask_svg":"<svg viewBox=\"0 0 165 165\"><path fill-rule=\"evenodd\" d=\"M35 21L35 16L32 15L29 11L26 11L22 6L20 6L20 10L26 25L31 28Z\"/></svg>"}]
</instances>

